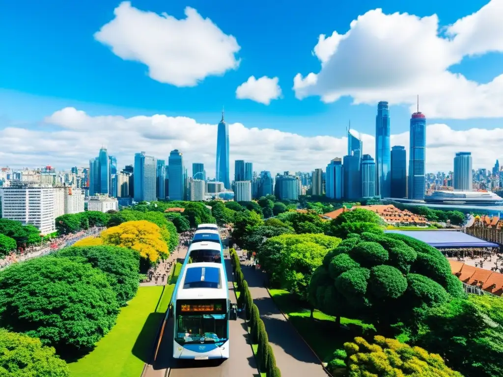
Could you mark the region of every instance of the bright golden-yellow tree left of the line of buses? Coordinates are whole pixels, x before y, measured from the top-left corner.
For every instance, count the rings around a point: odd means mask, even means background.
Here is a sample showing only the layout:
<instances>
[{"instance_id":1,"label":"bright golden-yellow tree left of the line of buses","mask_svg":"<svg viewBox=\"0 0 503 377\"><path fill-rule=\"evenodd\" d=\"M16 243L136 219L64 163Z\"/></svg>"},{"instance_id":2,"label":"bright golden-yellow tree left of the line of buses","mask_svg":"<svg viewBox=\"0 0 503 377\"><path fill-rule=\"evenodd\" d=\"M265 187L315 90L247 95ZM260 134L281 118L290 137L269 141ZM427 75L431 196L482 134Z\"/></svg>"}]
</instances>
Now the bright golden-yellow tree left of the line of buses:
<instances>
[{"instance_id":1,"label":"bright golden-yellow tree left of the line of buses","mask_svg":"<svg viewBox=\"0 0 503 377\"><path fill-rule=\"evenodd\" d=\"M101 233L100 238L105 245L129 247L136 250L143 258L151 262L169 255L161 229L145 220L128 221L108 228Z\"/></svg>"}]
</instances>

